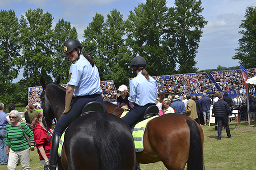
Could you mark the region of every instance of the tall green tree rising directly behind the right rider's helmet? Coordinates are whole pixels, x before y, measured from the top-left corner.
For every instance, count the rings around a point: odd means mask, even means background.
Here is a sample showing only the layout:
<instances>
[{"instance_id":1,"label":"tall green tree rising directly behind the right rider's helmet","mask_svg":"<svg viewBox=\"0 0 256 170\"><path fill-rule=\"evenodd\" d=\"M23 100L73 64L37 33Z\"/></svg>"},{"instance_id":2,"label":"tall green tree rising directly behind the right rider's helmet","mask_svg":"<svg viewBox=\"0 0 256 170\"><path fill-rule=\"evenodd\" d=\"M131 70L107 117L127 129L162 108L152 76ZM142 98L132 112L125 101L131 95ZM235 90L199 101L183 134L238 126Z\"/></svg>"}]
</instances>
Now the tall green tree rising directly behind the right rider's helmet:
<instances>
[{"instance_id":1,"label":"tall green tree rising directly behind the right rider's helmet","mask_svg":"<svg viewBox=\"0 0 256 170\"><path fill-rule=\"evenodd\" d=\"M173 8L166 0L147 0L139 4L126 20L127 44L134 57L147 61L150 75L171 74L176 67L174 46Z\"/></svg>"}]
</instances>

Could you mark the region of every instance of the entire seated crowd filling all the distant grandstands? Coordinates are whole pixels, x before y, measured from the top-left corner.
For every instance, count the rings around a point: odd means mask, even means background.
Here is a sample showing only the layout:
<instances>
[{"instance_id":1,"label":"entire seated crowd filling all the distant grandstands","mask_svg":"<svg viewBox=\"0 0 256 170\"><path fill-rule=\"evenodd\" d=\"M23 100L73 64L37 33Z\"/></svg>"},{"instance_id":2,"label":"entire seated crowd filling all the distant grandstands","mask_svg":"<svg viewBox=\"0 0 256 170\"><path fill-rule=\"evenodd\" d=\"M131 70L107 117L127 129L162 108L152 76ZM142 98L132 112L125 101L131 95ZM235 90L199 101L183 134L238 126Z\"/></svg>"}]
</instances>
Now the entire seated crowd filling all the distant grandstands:
<instances>
[{"instance_id":1,"label":"entire seated crowd filling all the distant grandstands","mask_svg":"<svg viewBox=\"0 0 256 170\"><path fill-rule=\"evenodd\" d=\"M256 69L247 69L248 78L256 76ZM211 72L215 81L223 91L245 89L240 70L215 71ZM176 95L199 94L217 92L217 88L205 72L179 74L170 76L155 76L158 83L158 92L173 92ZM62 85L66 87L66 85ZM117 91L113 81L101 81L102 98L116 102ZM28 104L41 109L42 101L40 94L42 87L34 87L28 93Z\"/></svg>"}]
</instances>

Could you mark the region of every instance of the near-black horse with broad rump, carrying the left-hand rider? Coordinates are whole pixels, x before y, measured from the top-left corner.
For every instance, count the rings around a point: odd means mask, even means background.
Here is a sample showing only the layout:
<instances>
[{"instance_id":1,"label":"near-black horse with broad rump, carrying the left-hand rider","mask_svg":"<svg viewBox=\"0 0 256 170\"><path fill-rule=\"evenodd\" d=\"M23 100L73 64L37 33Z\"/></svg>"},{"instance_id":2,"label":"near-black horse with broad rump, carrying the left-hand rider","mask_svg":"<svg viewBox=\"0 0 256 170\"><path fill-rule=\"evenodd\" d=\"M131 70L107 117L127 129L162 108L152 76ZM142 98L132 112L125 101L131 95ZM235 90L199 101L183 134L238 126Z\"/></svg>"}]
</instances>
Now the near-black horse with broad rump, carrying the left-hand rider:
<instances>
[{"instance_id":1,"label":"near-black horse with broad rump, carrying the left-hand rider","mask_svg":"<svg viewBox=\"0 0 256 170\"><path fill-rule=\"evenodd\" d=\"M49 126L61 118L66 89L56 83L40 84L43 115ZM59 170L136 170L136 155L130 127L106 112L89 112L75 119L65 131Z\"/></svg>"}]
</instances>

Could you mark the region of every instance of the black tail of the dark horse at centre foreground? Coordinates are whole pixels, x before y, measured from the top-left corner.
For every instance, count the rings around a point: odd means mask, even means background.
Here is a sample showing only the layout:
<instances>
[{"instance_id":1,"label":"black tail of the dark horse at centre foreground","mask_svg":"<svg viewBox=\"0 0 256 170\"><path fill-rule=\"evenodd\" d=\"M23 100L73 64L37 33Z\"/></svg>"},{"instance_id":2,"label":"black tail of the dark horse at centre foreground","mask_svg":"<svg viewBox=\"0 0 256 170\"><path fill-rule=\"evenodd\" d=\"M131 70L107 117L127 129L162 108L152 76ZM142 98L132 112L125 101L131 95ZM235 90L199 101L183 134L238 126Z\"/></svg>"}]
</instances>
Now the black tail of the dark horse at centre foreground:
<instances>
[{"instance_id":1,"label":"black tail of the dark horse at centre foreground","mask_svg":"<svg viewBox=\"0 0 256 170\"><path fill-rule=\"evenodd\" d=\"M122 170L120 132L108 121L98 121L93 135L100 170ZM111 132L111 133L109 133ZM97 134L97 135L96 135ZM121 134L122 135L122 134Z\"/></svg>"}]
</instances>

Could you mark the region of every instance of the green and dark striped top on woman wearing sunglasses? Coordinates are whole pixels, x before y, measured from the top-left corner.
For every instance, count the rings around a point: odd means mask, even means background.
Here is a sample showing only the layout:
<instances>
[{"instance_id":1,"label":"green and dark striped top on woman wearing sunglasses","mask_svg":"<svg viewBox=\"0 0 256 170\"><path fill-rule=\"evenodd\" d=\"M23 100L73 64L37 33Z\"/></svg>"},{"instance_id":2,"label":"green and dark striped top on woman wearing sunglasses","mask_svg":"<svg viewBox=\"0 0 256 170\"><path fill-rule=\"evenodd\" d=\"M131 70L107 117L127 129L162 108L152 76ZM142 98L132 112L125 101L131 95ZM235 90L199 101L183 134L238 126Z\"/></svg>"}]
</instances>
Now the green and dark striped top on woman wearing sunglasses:
<instances>
[{"instance_id":1,"label":"green and dark striped top on woman wearing sunglasses","mask_svg":"<svg viewBox=\"0 0 256 170\"><path fill-rule=\"evenodd\" d=\"M33 132L29 129L28 125L24 122L21 122L20 125L25 133L30 137L30 142L35 142ZM19 125L13 126L8 124L6 126L6 132L6 146L10 146L14 152L23 151L29 148L27 139Z\"/></svg>"}]
</instances>

